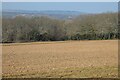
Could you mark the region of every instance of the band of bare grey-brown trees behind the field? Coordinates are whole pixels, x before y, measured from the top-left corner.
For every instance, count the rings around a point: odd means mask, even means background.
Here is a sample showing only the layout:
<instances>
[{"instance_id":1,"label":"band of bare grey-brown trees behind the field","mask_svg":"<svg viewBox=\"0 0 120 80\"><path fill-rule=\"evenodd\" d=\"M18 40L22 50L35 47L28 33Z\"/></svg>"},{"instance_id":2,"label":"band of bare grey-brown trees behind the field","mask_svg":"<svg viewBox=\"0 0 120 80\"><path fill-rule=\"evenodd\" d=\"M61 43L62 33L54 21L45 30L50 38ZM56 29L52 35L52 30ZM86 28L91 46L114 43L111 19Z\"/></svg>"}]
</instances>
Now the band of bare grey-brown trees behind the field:
<instances>
[{"instance_id":1,"label":"band of bare grey-brown trees behind the field","mask_svg":"<svg viewBox=\"0 0 120 80\"><path fill-rule=\"evenodd\" d=\"M2 18L2 42L118 39L117 13L80 15L70 20L41 17Z\"/></svg>"}]
</instances>

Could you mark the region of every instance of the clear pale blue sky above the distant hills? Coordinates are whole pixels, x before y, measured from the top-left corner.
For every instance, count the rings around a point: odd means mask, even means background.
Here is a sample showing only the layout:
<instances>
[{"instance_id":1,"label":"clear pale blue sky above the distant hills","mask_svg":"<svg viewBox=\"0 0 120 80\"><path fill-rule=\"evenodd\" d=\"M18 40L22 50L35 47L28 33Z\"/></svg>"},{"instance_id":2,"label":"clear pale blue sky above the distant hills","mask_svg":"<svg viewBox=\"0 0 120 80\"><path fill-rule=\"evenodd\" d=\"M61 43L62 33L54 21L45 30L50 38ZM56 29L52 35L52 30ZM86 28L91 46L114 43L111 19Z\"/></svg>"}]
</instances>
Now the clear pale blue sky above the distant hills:
<instances>
[{"instance_id":1,"label":"clear pale blue sky above the distant hills","mask_svg":"<svg viewBox=\"0 0 120 80\"><path fill-rule=\"evenodd\" d=\"M3 2L3 10L64 10L87 13L117 12L117 2Z\"/></svg>"}]
</instances>

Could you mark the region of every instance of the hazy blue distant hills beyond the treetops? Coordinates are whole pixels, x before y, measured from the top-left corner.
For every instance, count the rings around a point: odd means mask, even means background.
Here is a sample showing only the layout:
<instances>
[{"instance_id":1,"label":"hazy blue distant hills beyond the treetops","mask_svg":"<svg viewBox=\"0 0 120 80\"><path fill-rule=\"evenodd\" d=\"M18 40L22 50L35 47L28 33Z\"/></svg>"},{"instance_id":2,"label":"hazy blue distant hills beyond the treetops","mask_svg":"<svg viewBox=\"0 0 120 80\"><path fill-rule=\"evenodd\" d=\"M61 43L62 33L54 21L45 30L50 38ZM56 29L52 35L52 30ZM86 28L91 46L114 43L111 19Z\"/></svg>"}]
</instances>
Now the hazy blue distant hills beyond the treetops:
<instances>
[{"instance_id":1,"label":"hazy blue distant hills beyond the treetops","mask_svg":"<svg viewBox=\"0 0 120 80\"><path fill-rule=\"evenodd\" d=\"M16 16L35 17L48 16L57 19L72 19L78 15L85 14L79 11L45 10L45 11L27 11L27 10L3 10L2 16L14 18Z\"/></svg>"}]
</instances>

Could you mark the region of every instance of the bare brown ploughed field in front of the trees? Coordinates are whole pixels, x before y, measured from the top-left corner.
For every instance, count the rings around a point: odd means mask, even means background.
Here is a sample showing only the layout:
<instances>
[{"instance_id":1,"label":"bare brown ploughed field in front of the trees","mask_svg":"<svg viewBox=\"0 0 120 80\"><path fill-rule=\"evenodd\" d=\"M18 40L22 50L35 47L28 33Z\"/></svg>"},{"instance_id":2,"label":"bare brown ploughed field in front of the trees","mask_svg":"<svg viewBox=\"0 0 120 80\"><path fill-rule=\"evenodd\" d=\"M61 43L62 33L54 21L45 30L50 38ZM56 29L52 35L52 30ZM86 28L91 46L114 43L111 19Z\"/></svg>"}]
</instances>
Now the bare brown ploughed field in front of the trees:
<instances>
[{"instance_id":1,"label":"bare brown ploughed field in front of the trees","mask_svg":"<svg viewBox=\"0 0 120 80\"><path fill-rule=\"evenodd\" d=\"M118 77L118 41L56 41L2 45L2 76Z\"/></svg>"}]
</instances>

